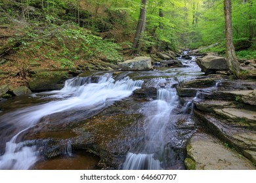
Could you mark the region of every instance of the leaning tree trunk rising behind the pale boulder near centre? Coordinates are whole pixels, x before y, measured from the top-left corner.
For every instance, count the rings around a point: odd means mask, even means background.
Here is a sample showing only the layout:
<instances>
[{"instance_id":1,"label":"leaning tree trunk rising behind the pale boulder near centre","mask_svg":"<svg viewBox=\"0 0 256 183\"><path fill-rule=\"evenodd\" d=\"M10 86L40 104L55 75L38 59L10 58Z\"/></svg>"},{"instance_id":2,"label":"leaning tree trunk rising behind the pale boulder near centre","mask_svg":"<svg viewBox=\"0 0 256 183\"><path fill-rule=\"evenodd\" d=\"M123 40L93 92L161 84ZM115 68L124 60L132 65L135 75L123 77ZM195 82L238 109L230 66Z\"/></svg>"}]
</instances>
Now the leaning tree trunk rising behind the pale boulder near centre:
<instances>
[{"instance_id":1,"label":"leaning tree trunk rising behind the pale boulder near centre","mask_svg":"<svg viewBox=\"0 0 256 183\"><path fill-rule=\"evenodd\" d=\"M135 38L133 41L133 50L131 50L132 54L137 54L140 51L141 42L140 40L143 37L144 30L146 27L146 2L147 0L141 0L140 5L140 16L137 24L137 30L135 33Z\"/></svg>"}]
</instances>

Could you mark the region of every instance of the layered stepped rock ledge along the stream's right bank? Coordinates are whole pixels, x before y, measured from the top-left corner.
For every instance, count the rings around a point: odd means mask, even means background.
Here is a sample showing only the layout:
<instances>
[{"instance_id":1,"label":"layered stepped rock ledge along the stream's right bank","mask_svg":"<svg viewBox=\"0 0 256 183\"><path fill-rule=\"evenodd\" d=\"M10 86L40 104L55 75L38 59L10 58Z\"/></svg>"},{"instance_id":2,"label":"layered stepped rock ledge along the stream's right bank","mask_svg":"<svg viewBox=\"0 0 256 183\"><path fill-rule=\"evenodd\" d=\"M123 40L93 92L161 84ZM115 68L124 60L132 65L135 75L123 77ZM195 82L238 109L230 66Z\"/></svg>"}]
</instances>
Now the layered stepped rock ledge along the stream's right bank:
<instances>
[{"instance_id":1,"label":"layered stepped rock ledge along the stream's right bank","mask_svg":"<svg viewBox=\"0 0 256 183\"><path fill-rule=\"evenodd\" d=\"M194 104L199 129L209 133L197 132L190 139L188 169L256 169L255 89L255 80L220 75L177 87L184 103Z\"/></svg>"}]
</instances>

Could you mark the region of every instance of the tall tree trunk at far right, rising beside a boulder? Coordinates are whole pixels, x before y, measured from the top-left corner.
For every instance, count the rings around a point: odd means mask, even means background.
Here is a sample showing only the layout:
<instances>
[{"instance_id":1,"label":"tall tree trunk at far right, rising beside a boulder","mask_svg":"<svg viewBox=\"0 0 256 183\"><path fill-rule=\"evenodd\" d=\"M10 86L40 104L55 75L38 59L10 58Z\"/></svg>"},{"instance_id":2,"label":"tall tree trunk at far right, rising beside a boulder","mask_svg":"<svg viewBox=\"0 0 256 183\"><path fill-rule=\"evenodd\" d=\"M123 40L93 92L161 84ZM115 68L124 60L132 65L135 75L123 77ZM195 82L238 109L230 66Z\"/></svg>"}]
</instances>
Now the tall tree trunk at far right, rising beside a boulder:
<instances>
[{"instance_id":1,"label":"tall tree trunk at far right, rising beside a boulder","mask_svg":"<svg viewBox=\"0 0 256 183\"><path fill-rule=\"evenodd\" d=\"M224 0L224 16L226 31L226 61L230 71L238 76L240 73L240 64L236 58L232 35L232 18L231 18L231 0Z\"/></svg>"}]
</instances>

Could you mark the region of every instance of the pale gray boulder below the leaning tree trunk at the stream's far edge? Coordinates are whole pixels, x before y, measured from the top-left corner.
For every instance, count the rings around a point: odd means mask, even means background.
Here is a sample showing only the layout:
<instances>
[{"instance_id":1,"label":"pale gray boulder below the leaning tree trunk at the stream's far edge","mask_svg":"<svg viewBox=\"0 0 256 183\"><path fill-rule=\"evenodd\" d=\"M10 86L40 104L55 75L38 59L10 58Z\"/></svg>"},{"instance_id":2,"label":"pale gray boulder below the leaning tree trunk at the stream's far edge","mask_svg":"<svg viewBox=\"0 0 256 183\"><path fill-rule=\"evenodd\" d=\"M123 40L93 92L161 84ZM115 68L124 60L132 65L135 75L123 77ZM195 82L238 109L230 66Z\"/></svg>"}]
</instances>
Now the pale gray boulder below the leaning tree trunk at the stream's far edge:
<instances>
[{"instance_id":1,"label":"pale gray boulder below the leaning tree trunk at the stream's far edge","mask_svg":"<svg viewBox=\"0 0 256 183\"><path fill-rule=\"evenodd\" d=\"M148 71L152 69L152 60L149 57L137 57L123 62L118 62L123 71Z\"/></svg>"}]
</instances>

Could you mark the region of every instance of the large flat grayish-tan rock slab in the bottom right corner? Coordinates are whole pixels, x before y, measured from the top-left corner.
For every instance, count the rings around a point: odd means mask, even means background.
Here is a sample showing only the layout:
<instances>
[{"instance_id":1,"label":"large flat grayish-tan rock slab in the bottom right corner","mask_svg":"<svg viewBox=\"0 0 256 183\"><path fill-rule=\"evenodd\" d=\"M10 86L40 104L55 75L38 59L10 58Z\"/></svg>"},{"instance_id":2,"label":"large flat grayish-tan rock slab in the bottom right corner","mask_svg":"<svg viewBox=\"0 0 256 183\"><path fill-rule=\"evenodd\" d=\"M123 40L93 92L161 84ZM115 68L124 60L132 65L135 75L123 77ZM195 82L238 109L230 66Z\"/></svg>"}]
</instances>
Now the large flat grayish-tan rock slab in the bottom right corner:
<instances>
[{"instance_id":1,"label":"large flat grayish-tan rock slab in the bottom right corner","mask_svg":"<svg viewBox=\"0 0 256 183\"><path fill-rule=\"evenodd\" d=\"M221 141L206 133L195 133L188 143L187 150L188 158L185 163L188 169L255 170L251 161L226 148Z\"/></svg>"}]
</instances>

